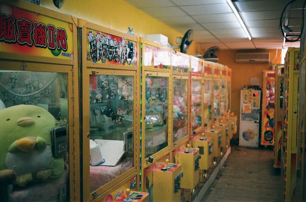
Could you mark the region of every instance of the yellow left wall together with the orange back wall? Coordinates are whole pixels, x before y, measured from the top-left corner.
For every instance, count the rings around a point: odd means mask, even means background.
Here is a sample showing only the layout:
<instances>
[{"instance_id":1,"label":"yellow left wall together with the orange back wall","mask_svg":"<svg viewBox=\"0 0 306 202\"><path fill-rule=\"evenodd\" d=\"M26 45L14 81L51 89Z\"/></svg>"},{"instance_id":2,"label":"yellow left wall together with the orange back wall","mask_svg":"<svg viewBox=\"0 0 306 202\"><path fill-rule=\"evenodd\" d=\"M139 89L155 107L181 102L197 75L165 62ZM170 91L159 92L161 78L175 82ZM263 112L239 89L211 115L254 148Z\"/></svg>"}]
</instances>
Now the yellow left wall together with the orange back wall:
<instances>
[{"instance_id":1,"label":"yellow left wall together with the orange back wall","mask_svg":"<svg viewBox=\"0 0 306 202\"><path fill-rule=\"evenodd\" d=\"M61 9L54 6L53 0L40 1L40 6L51 10L65 13L77 18L85 19L89 22L99 24L104 27L109 27L113 30L128 31L128 27L133 27L136 35L146 34L163 34L168 37L170 44L176 44L176 37L183 37L185 33L179 33L171 27L163 24L155 18L149 16L143 11L136 9L133 5L124 0L65 0ZM186 31L188 28L186 27ZM188 48L188 55L196 55L200 52L202 55L206 50L200 50L199 44L192 42ZM258 52L259 50L256 50ZM276 50L270 51L271 60L275 58ZM240 105L240 90L244 85L250 85L252 77L259 78L259 84L262 87L263 70L270 69L271 63L256 63L256 64L237 64L235 63L235 54L237 51L220 51L218 63L227 65L232 69L232 104L231 112L238 115ZM281 63L281 50L277 51L277 56L273 63ZM234 138L239 137L239 121L238 130Z\"/></svg>"}]
</instances>

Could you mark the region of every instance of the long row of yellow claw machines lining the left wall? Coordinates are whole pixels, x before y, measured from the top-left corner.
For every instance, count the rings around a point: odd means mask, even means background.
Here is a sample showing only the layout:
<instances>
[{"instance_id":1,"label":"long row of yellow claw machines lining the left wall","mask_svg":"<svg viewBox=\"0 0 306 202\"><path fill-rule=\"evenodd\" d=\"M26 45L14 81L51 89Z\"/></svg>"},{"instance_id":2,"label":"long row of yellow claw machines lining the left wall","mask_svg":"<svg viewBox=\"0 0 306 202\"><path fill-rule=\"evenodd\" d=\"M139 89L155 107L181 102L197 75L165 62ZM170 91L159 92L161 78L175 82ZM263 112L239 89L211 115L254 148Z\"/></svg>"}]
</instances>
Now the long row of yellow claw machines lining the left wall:
<instances>
[{"instance_id":1,"label":"long row of yellow claw machines lining the left wall","mask_svg":"<svg viewBox=\"0 0 306 202\"><path fill-rule=\"evenodd\" d=\"M213 179L237 129L230 68L27 2L0 7L1 199L183 202Z\"/></svg>"}]
</instances>

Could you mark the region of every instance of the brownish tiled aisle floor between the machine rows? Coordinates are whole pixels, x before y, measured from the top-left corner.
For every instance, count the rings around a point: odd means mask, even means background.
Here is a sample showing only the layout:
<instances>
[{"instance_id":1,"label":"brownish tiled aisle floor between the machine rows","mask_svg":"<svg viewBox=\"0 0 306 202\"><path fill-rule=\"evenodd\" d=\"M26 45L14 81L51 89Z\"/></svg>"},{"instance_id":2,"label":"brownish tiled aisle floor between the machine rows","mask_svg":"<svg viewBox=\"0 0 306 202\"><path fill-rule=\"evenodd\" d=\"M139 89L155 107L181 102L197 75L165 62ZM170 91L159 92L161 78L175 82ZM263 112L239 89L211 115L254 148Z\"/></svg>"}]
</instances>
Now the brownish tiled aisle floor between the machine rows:
<instances>
[{"instance_id":1,"label":"brownish tiled aisle floor between the machine rows","mask_svg":"<svg viewBox=\"0 0 306 202\"><path fill-rule=\"evenodd\" d=\"M271 147L232 145L201 202L279 202L281 176L273 168L273 156Z\"/></svg>"}]
</instances>

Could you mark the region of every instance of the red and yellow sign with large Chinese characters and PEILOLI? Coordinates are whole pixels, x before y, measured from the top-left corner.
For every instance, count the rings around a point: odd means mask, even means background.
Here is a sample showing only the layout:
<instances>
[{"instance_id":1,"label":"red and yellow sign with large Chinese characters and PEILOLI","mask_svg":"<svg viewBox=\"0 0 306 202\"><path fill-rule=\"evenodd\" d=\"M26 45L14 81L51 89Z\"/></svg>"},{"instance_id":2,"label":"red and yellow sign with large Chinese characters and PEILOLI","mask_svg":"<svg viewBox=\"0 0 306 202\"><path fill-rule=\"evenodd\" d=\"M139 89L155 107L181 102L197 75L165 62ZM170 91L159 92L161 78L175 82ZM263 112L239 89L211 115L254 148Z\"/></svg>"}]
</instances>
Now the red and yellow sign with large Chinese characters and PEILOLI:
<instances>
[{"instance_id":1,"label":"red and yellow sign with large Chinese characters and PEILOLI","mask_svg":"<svg viewBox=\"0 0 306 202\"><path fill-rule=\"evenodd\" d=\"M0 51L73 59L72 23L0 4Z\"/></svg>"}]
</instances>

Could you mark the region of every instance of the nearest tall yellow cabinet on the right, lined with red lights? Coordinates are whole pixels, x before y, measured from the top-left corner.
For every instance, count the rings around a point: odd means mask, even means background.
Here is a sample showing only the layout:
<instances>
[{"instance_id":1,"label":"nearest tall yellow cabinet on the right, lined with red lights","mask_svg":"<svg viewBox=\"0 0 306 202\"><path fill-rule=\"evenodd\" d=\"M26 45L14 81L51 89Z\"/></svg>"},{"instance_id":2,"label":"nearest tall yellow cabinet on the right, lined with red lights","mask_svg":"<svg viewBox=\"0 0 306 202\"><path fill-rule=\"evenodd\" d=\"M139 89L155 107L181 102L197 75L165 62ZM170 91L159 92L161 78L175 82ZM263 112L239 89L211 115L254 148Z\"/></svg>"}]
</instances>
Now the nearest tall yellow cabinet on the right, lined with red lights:
<instances>
[{"instance_id":1,"label":"nearest tall yellow cabinet on the right, lined with red lights","mask_svg":"<svg viewBox=\"0 0 306 202\"><path fill-rule=\"evenodd\" d=\"M288 48L284 66L281 201L295 201L300 143L297 138L300 48Z\"/></svg>"}]
</instances>

